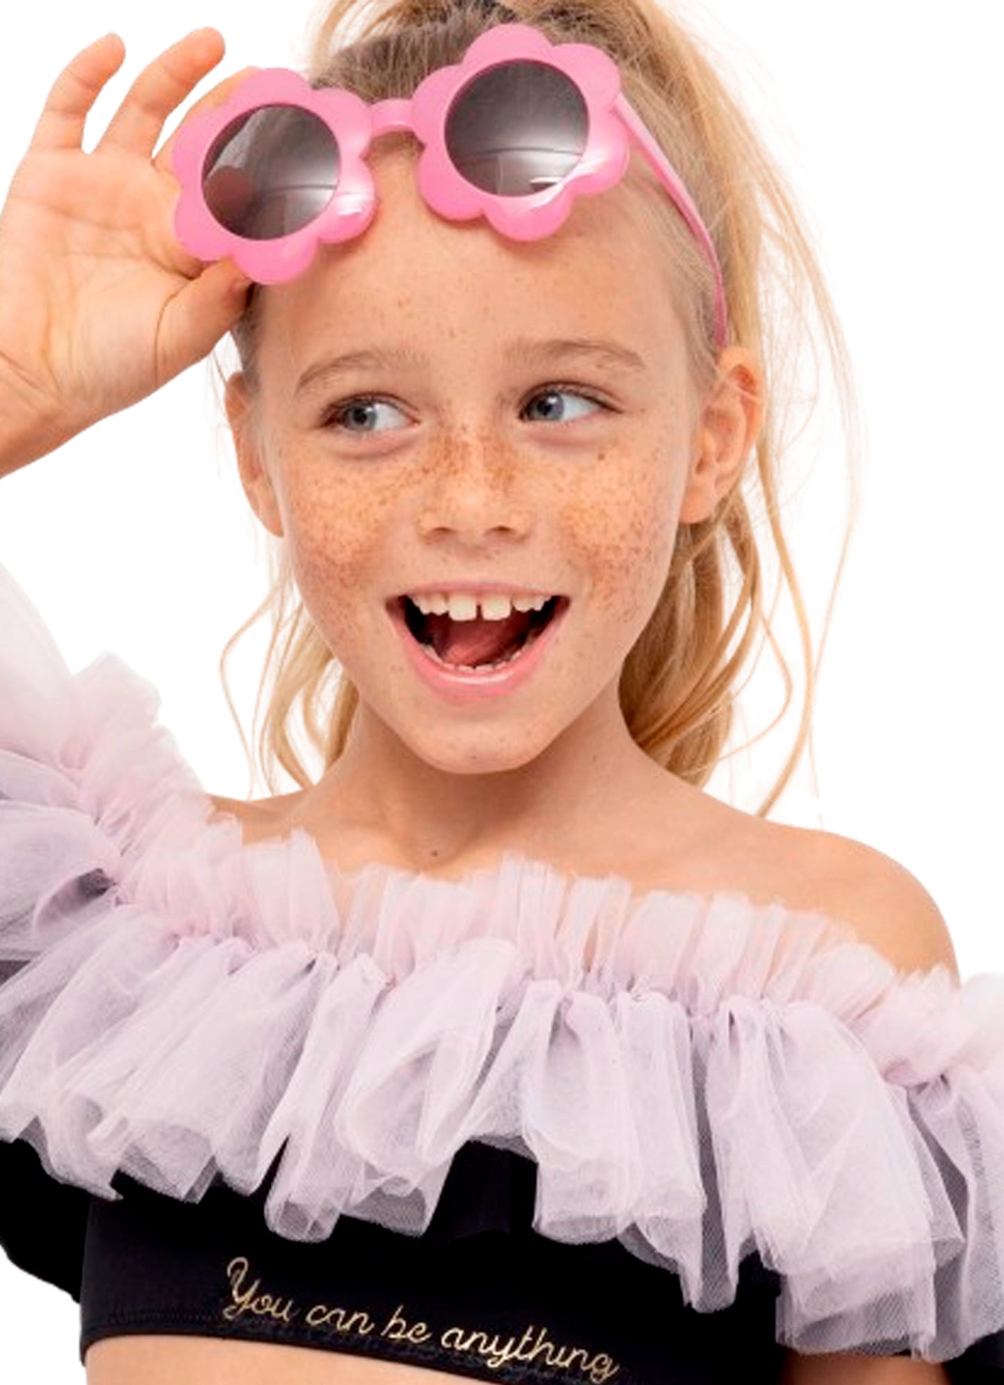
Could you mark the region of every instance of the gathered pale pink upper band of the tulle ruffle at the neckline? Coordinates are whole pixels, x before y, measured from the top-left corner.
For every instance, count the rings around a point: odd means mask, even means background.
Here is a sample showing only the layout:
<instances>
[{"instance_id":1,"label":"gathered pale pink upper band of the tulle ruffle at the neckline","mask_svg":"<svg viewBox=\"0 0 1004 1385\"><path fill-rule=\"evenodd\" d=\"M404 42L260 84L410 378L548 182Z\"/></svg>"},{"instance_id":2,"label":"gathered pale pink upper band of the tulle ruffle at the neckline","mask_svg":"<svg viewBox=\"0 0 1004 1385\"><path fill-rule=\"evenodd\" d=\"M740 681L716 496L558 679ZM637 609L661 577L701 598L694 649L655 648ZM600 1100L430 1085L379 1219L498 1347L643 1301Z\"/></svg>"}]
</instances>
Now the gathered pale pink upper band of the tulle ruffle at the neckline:
<instances>
[{"instance_id":1,"label":"gathered pale pink upper band of the tulle ruffle at the neckline","mask_svg":"<svg viewBox=\"0 0 1004 1385\"><path fill-rule=\"evenodd\" d=\"M784 974L796 961L805 967L835 949L868 964L859 1010L906 979L850 924L780 897L640 888L615 871L571 871L514 850L457 877L386 861L346 870L302 825L245 842L241 819L216 807L179 751L173 769L187 787L165 802L158 850L144 850L120 889L143 909L177 917L184 881L184 913L198 917L198 927L217 935L237 931L255 947L299 942L343 960L366 950L388 964L400 933L410 938L413 970L478 938L505 939L533 975L550 974L564 986L584 983L608 996L658 989L669 985L670 972L684 970L692 976L690 1008L703 1012L719 1007L730 986L751 996L781 994ZM723 968L728 954L731 964ZM712 957L716 963L702 976ZM938 970L951 983L947 970Z\"/></svg>"}]
</instances>

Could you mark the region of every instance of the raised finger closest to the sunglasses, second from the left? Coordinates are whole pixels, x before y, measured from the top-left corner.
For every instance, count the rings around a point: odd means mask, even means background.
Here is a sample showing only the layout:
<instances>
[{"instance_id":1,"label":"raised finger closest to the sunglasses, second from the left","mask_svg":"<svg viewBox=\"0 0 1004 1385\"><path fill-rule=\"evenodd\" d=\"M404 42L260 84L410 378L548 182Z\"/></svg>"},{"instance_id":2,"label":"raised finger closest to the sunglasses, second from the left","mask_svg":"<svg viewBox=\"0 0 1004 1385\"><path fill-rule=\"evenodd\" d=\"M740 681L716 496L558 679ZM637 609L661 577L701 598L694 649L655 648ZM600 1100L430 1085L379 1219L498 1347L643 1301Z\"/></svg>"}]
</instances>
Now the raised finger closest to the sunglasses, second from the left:
<instances>
[{"instance_id":1,"label":"raised finger closest to the sunglasses, second from the left","mask_svg":"<svg viewBox=\"0 0 1004 1385\"><path fill-rule=\"evenodd\" d=\"M173 43L133 82L96 152L114 148L150 157L163 122L216 66L223 53L223 35L216 29L195 29Z\"/></svg>"}]
</instances>

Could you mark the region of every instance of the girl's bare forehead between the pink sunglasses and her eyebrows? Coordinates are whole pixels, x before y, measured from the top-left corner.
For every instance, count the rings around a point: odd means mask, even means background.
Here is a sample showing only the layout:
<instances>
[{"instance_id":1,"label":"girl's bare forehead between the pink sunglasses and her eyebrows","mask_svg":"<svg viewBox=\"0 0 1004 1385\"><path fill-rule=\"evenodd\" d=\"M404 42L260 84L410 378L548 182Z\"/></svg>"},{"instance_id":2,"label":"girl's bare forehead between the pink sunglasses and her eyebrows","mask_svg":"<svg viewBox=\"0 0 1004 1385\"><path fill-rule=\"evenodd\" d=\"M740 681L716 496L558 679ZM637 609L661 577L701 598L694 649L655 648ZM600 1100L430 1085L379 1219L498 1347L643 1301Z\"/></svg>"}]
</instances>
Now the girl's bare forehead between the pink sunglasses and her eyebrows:
<instances>
[{"instance_id":1,"label":"girl's bare forehead between the pink sunglasses and her eyebrows","mask_svg":"<svg viewBox=\"0 0 1004 1385\"><path fill-rule=\"evenodd\" d=\"M317 337L604 334L655 349L674 337L665 241L627 183L579 198L559 230L510 240L485 222L447 222L422 201L414 159L379 159L377 215L356 240L321 247L310 269L263 291L262 348L296 357ZM285 355L285 352L284 352Z\"/></svg>"}]
</instances>

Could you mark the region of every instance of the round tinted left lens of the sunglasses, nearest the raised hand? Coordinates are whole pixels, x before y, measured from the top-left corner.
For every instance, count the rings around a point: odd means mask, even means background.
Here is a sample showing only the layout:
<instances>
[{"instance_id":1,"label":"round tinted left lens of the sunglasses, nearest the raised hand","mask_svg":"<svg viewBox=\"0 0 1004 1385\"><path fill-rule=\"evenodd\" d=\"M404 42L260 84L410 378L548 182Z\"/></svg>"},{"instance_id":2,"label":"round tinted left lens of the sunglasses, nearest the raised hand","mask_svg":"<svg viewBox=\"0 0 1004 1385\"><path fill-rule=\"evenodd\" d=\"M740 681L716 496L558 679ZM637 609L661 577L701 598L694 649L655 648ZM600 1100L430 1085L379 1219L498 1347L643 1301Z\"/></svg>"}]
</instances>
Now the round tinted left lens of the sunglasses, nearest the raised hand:
<instances>
[{"instance_id":1,"label":"round tinted left lens of the sunglasses, nearest the raised hand","mask_svg":"<svg viewBox=\"0 0 1004 1385\"><path fill-rule=\"evenodd\" d=\"M202 168L202 194L234 235L269 241L299 231L324 211L339 168L324 120L295 105L265 105L216 137Z\"/></svg>"}]
</instances>

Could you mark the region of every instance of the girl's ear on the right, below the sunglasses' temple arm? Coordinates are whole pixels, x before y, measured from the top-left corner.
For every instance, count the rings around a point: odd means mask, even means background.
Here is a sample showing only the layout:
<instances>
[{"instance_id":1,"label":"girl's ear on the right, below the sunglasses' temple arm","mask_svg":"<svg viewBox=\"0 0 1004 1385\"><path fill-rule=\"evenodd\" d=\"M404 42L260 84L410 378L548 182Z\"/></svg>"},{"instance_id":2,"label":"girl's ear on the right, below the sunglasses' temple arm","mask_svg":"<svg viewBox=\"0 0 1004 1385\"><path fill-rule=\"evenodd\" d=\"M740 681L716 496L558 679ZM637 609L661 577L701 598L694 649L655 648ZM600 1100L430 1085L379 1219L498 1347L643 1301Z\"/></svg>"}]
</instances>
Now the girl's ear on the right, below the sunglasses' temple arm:
<instances>
[{"instance_id":1,"label":"girl's ear on the right, below the sunglasses' temple arm","mask_svg":"<svg viewBox=\"0 0 1004 1385\"><path fill-rule=\"evenodd\" d=\"M710 519L724 494L739 481L763 421L763 370L745 346L719 357L691 450L691 470L680 521Z\"/></svg>"}]
</instances>

